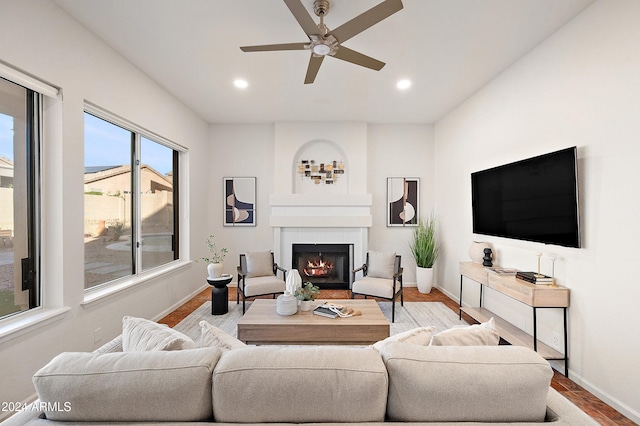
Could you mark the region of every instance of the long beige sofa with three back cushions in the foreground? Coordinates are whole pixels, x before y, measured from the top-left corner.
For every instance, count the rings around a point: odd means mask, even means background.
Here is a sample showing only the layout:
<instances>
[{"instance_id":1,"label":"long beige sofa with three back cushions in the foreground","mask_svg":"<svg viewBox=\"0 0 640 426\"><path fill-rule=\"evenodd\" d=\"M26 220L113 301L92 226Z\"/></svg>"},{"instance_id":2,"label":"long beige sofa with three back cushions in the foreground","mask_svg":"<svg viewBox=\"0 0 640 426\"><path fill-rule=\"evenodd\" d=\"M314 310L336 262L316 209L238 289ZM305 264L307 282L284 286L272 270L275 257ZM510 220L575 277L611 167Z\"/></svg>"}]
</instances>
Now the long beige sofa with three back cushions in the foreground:
<instances>
[{"instance_id":1,"label":"long beige sofa with three back cushions in the foreground","mask_svg":"<svg viewBox=\"0 0 640 426\"><path fill-rule=\"evenodd\" d=\"M120 339L120 340L118 340ZM64 353L9 425L86 423L597 424L509 346L205 347ZM165 423L166 424L166 423Z\"/></svg>"}]
</instances>

